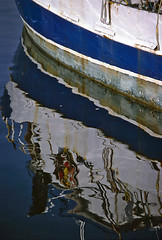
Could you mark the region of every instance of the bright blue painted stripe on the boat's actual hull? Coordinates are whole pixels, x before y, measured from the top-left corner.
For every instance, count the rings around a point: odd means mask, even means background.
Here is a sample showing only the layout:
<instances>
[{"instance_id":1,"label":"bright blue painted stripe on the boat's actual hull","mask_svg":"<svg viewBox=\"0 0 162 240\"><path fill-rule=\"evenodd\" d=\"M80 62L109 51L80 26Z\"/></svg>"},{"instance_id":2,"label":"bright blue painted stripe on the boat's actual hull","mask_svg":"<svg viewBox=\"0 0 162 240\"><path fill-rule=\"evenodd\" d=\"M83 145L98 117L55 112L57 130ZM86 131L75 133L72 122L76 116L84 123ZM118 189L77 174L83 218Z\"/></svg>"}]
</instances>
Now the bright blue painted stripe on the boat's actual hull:
<instances>
[{"instance_id":1,"label":"bright blue painted stripe on the boat's actual hull","mask_svg":"<svg viewBox=\"0 0 162 240\"><path fill-rule=\"evenodd\" d=\"M162 80L161 56L104 38L81 28L32 0L16 0L23 19L44 37L93 59Z\"/></svg>"}]
</instances>

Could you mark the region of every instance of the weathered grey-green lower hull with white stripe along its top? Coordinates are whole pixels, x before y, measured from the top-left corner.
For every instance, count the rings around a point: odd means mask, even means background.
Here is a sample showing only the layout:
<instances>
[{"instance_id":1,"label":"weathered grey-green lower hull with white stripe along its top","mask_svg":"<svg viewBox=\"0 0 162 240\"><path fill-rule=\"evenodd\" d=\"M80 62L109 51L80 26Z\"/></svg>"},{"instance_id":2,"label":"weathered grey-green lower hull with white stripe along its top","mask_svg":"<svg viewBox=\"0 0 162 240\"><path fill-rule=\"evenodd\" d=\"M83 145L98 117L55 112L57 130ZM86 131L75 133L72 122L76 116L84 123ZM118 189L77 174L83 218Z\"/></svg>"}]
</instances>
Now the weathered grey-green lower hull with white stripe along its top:
<instances>
[{"instance_id":1,"label":"weathered grey-green lower hull with white stripe along its top","mask_svg":"<svg viewBox=\"0 0 162 240\"><path fill-rule=\"evenodd\" d=\"M26 23L29 35L58 62L93 80L151 106L162 107L162 82L94 60L41 36Z\"/></svg>"}]
</instances>

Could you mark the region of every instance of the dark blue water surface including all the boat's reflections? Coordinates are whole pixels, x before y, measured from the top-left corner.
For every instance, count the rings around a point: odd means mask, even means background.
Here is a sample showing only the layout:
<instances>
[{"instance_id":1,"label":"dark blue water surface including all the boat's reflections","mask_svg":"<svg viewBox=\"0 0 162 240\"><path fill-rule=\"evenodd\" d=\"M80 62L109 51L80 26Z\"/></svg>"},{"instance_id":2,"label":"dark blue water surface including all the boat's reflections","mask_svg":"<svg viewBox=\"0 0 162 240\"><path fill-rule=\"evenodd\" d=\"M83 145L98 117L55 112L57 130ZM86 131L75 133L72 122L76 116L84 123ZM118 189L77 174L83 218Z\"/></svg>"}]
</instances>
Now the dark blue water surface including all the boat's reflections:
<instances>
[{"instance_id":1,"label":"dark blue water surface including all the boat's reflections","mask_svg":"<svg viewBox=\"0 0 162 240\"><path fill-rule=\"evenodd\" d=\"M161 239L162 113L43 55L14 1L0 25L0 239Z\"/></svg>"}]
</instances>

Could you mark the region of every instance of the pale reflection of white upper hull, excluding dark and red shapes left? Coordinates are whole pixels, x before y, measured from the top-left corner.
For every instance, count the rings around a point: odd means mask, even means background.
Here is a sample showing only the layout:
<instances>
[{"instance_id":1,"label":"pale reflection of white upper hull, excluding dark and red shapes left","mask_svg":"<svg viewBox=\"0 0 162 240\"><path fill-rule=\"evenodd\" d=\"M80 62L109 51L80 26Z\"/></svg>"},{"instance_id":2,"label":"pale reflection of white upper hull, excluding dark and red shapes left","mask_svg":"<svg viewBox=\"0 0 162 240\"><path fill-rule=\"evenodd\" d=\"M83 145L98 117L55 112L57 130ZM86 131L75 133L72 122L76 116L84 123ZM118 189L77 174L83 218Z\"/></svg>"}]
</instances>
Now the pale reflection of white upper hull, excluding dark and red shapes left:
<instances>
[{"instance_id":1,"label":"pale reflection of white upper hull, excluding dark and red shapes left","mask_svg":"<svg viewBox=\"0 0 162 240\"><path fill-rule=\"evenodd\" d=\"M22 125L24 122L31 123L28 144L23 144L21 134L18 136L24 151L35 156L31 169L49 173L52 183L64 188L54 174L55 156L60 148L68 149L72 154L78 169L78 183L70 188L74 192L82 190L80 194L69 194L69 198L77 202L74 213L90 218L96 214L103 224L114 224L110 219L112 216L117 225L144 217L145 214L161 216L162 175L158 162L137 156L127 145L105 137L97 129L62 118L54 110L39 106L25 97L23 91L11 81L6 88L11 100L11 119ZM39 148L39 158L34 146ZM77 162L76 156L81 156L84 163ZM82 210L82 200L89 202L86 212ZM138 215L138 207L145 212L142 210Z\"/></svg>"}]
</instances>

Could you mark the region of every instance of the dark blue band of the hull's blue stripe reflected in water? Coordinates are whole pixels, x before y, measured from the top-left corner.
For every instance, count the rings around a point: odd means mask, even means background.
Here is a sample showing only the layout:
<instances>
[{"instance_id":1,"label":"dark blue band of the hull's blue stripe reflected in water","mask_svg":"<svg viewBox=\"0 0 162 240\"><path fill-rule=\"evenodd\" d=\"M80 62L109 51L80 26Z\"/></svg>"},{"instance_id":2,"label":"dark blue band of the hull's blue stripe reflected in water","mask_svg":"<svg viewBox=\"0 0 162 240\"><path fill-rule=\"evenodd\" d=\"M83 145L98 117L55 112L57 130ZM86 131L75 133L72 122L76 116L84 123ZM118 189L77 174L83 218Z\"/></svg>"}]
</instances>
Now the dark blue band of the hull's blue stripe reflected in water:
<instances>
[{"instance_id":1,"label":"dark blue band of the hull's blue stripe reflected in water","mask_svg":"<svg viewBox=\"0 0 162 240\"><path fill-rule=\"evenodd\" d=\"M108 114L103 108L96 111L93 102L73 94L57 79L41 72L24 54L21 46L15 53L12 78L39 104L55 109L66 118L81 121L88 127L101 129L106 136L126 143L137 153L161 160L162 139L154 138L137 126Z\"/></svg>"}]
</instances>

